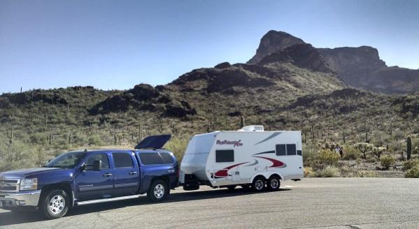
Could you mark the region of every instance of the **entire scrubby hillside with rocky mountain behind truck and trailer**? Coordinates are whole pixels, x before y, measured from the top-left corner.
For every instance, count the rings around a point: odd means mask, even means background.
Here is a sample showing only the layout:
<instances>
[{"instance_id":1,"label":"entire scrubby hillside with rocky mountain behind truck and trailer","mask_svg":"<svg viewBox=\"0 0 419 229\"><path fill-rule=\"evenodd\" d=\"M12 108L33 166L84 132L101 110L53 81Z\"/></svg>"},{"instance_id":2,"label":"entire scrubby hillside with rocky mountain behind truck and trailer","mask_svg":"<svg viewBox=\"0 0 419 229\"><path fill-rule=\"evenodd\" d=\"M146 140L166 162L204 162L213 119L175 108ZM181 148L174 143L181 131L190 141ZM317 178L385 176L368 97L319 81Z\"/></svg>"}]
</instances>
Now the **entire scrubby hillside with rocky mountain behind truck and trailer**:
<instances>
[{"instance_id":1,"label":"entire scrubby hillside with rocky mountain behind truck and trailer","mask_svg":"<svg viewBox=\"0 0 419 229\"><path fill-rule=\"evenodd\" d=\"M367 141L398 152L402 138L419 133L419 95L389 96L348 84L415 91L416 74L385 66L371 47L318 49L269 31L247 64L198 68L166 85L1 95L0 170L33 163L22 163L20 152L37 155L41 163L44 152L52 156L80 147L129 147L156 133L175 135L171 149L181 156L191 135L237 129L241 117L268 130L301 130L304 147L312 151L325 142Z\"/></svg>"}]
</instances>

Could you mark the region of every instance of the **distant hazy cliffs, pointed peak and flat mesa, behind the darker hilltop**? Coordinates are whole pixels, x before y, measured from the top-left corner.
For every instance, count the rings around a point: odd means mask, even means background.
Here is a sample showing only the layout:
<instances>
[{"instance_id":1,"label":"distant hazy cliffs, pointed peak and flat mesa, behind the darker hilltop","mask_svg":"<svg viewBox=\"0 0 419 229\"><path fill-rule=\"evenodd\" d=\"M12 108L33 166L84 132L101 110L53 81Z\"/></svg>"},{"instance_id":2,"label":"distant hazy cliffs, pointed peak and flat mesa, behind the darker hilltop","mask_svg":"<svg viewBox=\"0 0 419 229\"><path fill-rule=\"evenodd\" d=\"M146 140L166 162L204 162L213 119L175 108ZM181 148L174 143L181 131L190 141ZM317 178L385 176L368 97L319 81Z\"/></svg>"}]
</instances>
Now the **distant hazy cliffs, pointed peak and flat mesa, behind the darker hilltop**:
<instances>
[{"instance_id":1,"label":"distant hazy cliffs, pointed peak and flat mesa, behind the darker hilltop","mask_svg":"<svg viewBox=\"0 0 419 229\"><path fill-rule=\"evenodd\" d=\"M260 40L255 57L248 64L259 64L271 54L304 41L282 31L269 31ZM415 93L419 89L419 70L388 67L374 47L336 47L317 49L327 66L350 86L385 94ZM308 54L308 52L306 52ZM285 58L284 54L277 54ZM263 63L262 63L263 64Z\"/></svg>"}]
</instances>

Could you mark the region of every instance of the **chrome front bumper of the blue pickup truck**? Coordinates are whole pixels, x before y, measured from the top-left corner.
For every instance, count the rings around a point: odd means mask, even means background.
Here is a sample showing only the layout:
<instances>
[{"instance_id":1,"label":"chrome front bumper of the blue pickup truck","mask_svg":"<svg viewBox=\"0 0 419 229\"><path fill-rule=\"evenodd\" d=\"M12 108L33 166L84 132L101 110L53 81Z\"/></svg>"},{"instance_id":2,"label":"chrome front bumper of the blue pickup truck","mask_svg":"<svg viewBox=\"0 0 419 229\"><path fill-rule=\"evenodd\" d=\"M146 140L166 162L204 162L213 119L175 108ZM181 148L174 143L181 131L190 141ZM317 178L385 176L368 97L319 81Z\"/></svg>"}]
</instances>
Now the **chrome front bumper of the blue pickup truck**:
<instances>
[{"instance_id":1,"label":"chrome front bumper of the blue pickup truck","mask_svg":"<svg viewBox=\"0 0 419 229\"><path fill-rule=\"evenodd\" d=\"M0 208L38 206L41 190L20 191L17 193L0 192Z\"/></svg>"}]
</instances>

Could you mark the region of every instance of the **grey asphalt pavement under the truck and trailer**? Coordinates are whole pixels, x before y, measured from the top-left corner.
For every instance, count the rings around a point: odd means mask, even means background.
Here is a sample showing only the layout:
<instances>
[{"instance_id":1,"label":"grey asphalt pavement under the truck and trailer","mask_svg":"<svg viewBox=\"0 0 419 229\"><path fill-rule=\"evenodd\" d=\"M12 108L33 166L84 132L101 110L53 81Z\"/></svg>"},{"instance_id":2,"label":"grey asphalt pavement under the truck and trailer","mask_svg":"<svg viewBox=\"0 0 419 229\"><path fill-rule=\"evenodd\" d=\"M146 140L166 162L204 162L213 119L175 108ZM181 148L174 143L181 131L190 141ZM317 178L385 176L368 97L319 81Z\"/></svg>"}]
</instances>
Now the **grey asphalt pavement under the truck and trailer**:
<instances>
[{"instance_id":1,"label":"grey asphalt pavement under the truck and trailer","mask_svg":"<svg viewBox=\"0 0 419 229\"><path fill-rule=\"evenodd\" d=\"M173 191L78 207L62 219L0 210L0 228L419 228L419 179L325 178L280 191Z\"/></svg>"}]
</instances>

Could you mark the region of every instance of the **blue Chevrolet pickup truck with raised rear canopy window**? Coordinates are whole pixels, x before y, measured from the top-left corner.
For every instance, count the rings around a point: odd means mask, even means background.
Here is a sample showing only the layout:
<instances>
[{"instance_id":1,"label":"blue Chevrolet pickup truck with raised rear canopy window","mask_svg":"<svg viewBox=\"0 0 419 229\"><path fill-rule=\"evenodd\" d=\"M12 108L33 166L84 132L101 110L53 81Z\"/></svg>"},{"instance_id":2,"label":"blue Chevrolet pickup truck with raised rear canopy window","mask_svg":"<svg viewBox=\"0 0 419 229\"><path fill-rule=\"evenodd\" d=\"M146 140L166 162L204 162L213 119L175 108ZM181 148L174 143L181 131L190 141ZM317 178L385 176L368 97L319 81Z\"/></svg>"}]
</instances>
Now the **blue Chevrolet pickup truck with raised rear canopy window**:
<instances>
[{"instance_id":1,"label":"blue Chevrolet pickup truck with raised rear canopy window","mask_svg":"<svg viewBox=\"0 0 419 229\"><path fill-rule=\"evenodd\" d=\"M171 135L145 138L135 149L67 152L43 168L0 173L0 208L39 209L57 219L74 206L136 198L160 202L178 186L179 166L162 149Z\"/></svg>"}]
</instances>

